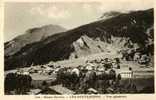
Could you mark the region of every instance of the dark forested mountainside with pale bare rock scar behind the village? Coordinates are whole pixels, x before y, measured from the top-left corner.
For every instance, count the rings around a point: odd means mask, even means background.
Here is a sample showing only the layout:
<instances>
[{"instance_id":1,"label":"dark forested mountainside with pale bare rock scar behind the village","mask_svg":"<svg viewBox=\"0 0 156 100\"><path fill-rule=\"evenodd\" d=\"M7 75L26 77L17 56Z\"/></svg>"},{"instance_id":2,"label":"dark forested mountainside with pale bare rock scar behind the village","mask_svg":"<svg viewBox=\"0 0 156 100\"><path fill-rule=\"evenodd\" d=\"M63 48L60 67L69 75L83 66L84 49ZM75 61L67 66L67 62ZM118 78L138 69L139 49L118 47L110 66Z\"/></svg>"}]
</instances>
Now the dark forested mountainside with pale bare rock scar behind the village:
<instances>
[{"instance_id":1,"label":"dark forested mountainside with pale bare rock scar behind the village","mask_svg":"<svg viewBox=\"0 0 156 100\"><path fill-rule=\"evenodd\" d=\"M152 53L148 47L154 46L153 24L153 9L101 19L27 44L17 53L5 56L5 70L130 48Z\"/></svg>"}]
</instances>

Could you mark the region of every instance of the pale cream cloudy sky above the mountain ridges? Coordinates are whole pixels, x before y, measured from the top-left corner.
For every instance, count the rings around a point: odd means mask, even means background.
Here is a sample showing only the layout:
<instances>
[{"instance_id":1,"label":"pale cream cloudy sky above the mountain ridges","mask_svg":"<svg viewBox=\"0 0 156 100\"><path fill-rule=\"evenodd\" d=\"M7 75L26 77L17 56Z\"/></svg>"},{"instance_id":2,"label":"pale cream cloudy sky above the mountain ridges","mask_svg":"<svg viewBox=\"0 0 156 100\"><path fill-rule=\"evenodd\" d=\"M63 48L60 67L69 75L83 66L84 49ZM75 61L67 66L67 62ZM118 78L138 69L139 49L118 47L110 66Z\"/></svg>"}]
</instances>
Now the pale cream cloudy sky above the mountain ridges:
<instances>
[{"instance_id":1,"label":"pale cream cloudy sky above the mountain ridges","mask_svg":"<svg viewBox=\"0 0 156 100\"><path fill-rule=\"evenodd\" d=\"M133 0L132 0L133 1ZM43 25L60 25L72 29L98 20L109 11L127 12L153 7L153 0L129 2L8 2L4 6L4 41Z\"/></svg>"}]
</instances>

